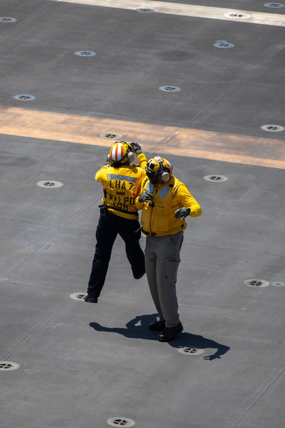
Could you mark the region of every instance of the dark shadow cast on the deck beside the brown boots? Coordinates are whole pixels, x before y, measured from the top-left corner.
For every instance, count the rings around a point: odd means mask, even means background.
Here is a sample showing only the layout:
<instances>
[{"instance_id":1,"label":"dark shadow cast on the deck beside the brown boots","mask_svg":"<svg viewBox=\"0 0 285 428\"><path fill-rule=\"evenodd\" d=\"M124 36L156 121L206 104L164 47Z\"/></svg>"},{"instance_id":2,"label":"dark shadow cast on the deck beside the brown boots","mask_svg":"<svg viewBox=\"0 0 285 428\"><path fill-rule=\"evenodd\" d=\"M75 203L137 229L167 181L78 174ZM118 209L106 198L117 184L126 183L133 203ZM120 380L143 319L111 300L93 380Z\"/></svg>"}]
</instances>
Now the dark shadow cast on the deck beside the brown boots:
<instances>
[{"instance_id":1,"label":"dark shadow cast on the deck beside the brown boots","mask_svg":"<svg viewBox=\"0 0 285 428\"><path fill-rule=\"evenodd\" d=\"M103 327L97 322L91 322L89 325L90 327L94 328L96 331L105 331L109 333L118 333L125 337L129 337L132 339L147 339L147 340L157 340L157 336L159 335L159 331L150 331L148 330L148 325L151 322L156 321L156 316L158 314L153 315L139 315L129 321L126 324L126 328L120 328L120 327ZM141 322L141 325L135 325L138 324L139 321ZM196 334L191 334L187 332L179 333L176 338L171 341L167 342L170 346L173 348L185 348L185 347L191 347L191 348L214 348L217 349L217 351L212 354L205 356L205 360L215 360L216 358L220 358L221 355L226 354L227 351L229 351L229 346L221 345L220 343L215 342L211 339L206 339L203 336L197 336Z\"/></svg>"}]
</instances>

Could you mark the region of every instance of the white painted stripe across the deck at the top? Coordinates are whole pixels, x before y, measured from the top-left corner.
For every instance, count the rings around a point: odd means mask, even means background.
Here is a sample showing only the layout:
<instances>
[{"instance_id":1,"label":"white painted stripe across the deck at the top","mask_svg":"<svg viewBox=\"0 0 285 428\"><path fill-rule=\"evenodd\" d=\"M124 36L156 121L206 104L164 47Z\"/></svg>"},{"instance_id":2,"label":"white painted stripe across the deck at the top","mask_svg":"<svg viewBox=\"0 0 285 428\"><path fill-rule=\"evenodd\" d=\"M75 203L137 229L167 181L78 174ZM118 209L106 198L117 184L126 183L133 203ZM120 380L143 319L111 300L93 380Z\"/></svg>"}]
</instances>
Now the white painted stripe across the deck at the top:
<instances>
[{"instance_id":1,"label":"white painted stripe across the deck at the top","mask_svg":"<svg viewBox=\"0 0 285 428\"><path fill-rule=\"evenodd\" d=\"M195 16L198 18L222 19L224 21L247 22L251 24L265 24L285 27L285 15L248 10L224 9L220 7L197 6L183 3L167 3L154 0L54 0L65 3L87 4L90 6L104 6L117 9L135 10L139 8L155 9L159 13L171 15ZM230 18L232 13L241 12L250 15L248 18Z\"/></svg>"}]
</instances>

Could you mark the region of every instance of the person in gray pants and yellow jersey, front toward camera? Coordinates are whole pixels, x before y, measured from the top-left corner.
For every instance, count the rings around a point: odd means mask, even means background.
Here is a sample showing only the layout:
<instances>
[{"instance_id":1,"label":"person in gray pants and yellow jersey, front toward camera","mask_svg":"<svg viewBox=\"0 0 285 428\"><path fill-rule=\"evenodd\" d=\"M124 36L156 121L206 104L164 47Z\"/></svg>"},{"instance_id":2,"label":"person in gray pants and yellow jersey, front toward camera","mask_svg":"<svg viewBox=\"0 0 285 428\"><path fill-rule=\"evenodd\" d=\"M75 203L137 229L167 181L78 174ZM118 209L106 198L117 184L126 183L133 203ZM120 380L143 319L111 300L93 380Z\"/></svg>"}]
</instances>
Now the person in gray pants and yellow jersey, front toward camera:
<instances>
[{"instance_id":1,"label":"person in gray pants and yellow jersey, front toward camera","mask_svg":"<svg viewBox=\"0 0 285 428\"><path fill-rule=\"evenodd\" d=\"M141 226L146 238L145 269L159 321L150 330L163 330L160 342L169 342L183 330L179 320L176 279L183 242L185 217L202 214L200 205L187 187L172 175L172 166L156 156L147 162L147 177L135 206L141 211Z\"/></svg>"}]
</instances>

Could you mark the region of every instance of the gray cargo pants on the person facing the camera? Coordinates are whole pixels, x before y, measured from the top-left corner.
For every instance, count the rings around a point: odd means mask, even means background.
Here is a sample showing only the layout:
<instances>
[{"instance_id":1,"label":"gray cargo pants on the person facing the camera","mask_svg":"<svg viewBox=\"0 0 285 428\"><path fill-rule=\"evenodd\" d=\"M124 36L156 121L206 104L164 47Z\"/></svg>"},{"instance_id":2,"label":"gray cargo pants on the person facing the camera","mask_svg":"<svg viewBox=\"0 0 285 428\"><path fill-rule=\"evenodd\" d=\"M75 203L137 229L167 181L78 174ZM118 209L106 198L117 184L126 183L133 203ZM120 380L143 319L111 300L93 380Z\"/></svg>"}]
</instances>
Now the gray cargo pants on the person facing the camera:
<instances>
[{"instance_id":1,"label":"gray cargo pants on the person facing the camera","mask_svg":"<svg viewBox=\"0 0 285 428\"><path fill-rule=\"evenodd\" d=\"M175 327L179 323L176 280L183 231L175 235L147 236L146 241L145 270L153 302L166 327Z\"/></svg>"}]
</instances>

